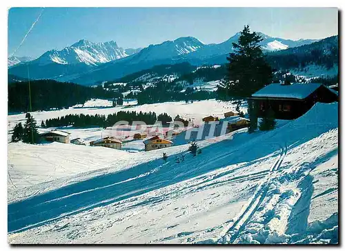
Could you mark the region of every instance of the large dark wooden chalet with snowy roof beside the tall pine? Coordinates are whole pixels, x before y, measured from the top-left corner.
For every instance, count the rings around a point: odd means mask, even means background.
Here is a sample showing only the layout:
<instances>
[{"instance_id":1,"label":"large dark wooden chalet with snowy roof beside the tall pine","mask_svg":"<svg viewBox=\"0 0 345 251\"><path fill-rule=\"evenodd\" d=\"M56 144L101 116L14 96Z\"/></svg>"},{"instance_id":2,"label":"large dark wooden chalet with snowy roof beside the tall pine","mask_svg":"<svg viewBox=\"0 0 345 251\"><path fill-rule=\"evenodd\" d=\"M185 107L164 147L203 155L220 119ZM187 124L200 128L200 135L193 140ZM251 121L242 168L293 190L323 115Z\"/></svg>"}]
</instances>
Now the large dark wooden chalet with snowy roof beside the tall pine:
<instances>
[{"instance_id":1,"label":"large dark wooden chalet with snowy roof beside the tall pine","mask_svg":"<svg viewBox=\"0 0 345 251\"><path fill-rule=\"evenodd\" d=\"M275 119L296 119L317 102L332 103L338 99L337 92L321 83L271 83L255 92L249 103L252 108L257 108L257 117L264 117L270 108Z\"/></svg>"}]
</instances>

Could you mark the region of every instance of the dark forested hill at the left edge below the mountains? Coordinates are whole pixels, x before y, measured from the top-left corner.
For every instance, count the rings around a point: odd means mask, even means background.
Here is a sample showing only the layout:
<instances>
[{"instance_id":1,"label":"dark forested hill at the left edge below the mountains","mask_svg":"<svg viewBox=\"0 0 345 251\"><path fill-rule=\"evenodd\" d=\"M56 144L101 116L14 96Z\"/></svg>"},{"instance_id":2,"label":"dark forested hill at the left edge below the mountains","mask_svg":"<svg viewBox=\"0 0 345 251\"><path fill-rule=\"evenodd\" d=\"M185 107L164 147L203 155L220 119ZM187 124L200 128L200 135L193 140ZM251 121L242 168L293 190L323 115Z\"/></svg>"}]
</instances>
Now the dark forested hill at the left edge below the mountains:
<instances>
[{"instance_id":1,"label":"dark forested hill at the left edge below the mountains","mask_svg":"<svg viewBox=\"0 0 345 251\"><path fill-rule=\"evenodd\" d=\"M8 83L8 112L30 111L28 81ZM101 86L90 88L75 83L58 82L49 79L30 81L32 111L50 108L68 108L88 99L111 99L122 97L117 92L108 92Z\"/></svg>"}]
</instances>

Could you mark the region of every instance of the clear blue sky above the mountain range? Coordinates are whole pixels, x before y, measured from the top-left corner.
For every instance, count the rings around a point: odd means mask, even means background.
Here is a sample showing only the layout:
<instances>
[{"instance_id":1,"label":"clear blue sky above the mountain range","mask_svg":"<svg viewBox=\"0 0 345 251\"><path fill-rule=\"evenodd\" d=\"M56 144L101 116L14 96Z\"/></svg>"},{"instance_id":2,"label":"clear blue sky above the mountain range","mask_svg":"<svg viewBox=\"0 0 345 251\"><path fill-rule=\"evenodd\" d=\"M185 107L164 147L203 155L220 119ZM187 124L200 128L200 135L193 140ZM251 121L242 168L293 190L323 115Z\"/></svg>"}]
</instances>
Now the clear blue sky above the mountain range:
<instances>
[{"instance_id":1,"label":"clear blue sky above the mountain range","mask_svg":"<svg viewBox=\"0 0 345 251\"><path fill-rule=\"evenodd\" d=\"M42 8L8 12L8 54L20 45ZM337 8L45 8L16 56L39 57L80 39L117 41L123 48L193 36L220 43L243 26L284 39L337 34Z\"/></svg>"}]
</instances>

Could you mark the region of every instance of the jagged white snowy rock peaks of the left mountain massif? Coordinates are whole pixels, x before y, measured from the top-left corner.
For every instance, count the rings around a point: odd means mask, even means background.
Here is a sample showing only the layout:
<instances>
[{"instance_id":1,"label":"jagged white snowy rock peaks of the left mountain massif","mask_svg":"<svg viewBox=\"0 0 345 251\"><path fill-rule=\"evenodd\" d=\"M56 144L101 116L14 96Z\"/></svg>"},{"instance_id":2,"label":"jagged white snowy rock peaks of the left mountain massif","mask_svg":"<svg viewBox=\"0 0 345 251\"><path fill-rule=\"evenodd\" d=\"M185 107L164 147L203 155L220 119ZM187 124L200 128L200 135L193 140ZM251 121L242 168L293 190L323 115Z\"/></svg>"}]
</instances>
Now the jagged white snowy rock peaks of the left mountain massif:
<instances>
[{"instance_id":1,"label":"jagged white snowy rock peaks of the left mountain massif","mask_svg":"<svg viewBox=\"0 0 345 251\"><path fill-rule=\"evenodd\" d=\"M115 41L92 43L81 39L63 50L50 50L44 53L36 59L36 62L40 65L54 62L59 64L86 63L96 66L99 63L128 57L128 52L135 52L135 50L126 51L117 46Z\"/></svg>"}]
</instances>

